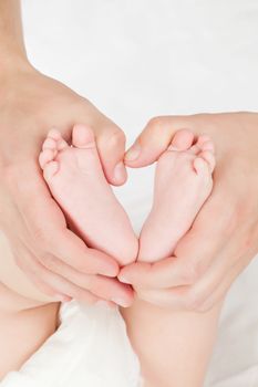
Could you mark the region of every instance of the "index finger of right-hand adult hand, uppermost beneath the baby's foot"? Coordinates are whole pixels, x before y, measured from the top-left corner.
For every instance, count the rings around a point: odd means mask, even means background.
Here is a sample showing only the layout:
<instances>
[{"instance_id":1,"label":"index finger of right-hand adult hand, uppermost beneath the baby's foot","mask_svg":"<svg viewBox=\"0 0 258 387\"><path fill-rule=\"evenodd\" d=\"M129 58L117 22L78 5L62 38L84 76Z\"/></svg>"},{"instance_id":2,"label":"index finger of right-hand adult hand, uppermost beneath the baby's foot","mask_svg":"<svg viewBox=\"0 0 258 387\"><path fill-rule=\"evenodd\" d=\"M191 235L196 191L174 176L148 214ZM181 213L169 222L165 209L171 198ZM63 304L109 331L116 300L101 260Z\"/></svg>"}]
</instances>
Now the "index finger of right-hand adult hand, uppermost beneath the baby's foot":
<instances>
[{"instance_id":1,"label":"index finger of right-hand adult hand, uppermost beneath the baby's foot","mask_svg":"<svg viewBox=\"0 0 258 387\"><path fill-rule=\"evenodd\" d=\"M216 224L210 224L210 212L216 210L215 199L203 208L198 220L175 249L175 257L156 263L136 262L122 269L118 278L137 287L166 289L196 283L217 259L228 241L224 232L230 222L227 211L219 212ZM206 219L207 218L207 219Z\"/></svg>"}]
</instances>

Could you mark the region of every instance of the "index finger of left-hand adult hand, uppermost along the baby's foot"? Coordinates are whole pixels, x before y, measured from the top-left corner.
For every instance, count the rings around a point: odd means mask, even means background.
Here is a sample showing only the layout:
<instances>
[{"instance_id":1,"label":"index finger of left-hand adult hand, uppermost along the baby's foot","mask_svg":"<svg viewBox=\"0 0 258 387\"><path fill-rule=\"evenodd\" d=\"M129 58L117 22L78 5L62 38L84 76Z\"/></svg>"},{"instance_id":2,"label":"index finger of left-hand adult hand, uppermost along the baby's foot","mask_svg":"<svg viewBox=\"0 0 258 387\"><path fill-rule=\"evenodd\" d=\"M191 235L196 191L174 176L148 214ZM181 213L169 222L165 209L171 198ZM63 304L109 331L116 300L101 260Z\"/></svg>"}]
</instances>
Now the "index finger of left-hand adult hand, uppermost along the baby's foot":
<instances>
[{"instance_id":1,"label":"index finger of left-hand adult hand, uppermost along the baby's foot","mask_svg":"<svg viewBox=\"0 0 258 387\"><path fill-rule=\"evenodd\" d=\"M33 241L34 253L42 262L48 257L45 253L52 253L84 273L117 275L118 264L114 259L89 249L79 237L66 229L61 209L50 197L41 179L35 178L20 189L23 195L19 210L29 231L30 244Z\"/></svg>"}]
</instances>

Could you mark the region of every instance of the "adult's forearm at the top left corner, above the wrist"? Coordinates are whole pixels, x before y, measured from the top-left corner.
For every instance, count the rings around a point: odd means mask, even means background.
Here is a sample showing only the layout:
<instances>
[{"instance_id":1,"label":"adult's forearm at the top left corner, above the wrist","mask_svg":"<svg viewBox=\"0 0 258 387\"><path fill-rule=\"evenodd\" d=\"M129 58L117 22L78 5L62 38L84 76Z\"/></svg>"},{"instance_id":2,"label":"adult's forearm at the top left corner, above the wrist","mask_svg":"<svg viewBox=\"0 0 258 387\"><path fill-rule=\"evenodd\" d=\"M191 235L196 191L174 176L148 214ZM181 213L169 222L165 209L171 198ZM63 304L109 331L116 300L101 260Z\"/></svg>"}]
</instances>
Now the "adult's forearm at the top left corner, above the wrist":
<instances>
[{"instance_id":1,"label":"adult's forearm at the top left corner, above the wrist","mask_svg":"<svg viewBox=\"0 0 258 387\"><path fill-rule=\"evenodd\" d=\"M0 67L27 62L19 0L0 0Z\"/></svg>"}]
</instances>

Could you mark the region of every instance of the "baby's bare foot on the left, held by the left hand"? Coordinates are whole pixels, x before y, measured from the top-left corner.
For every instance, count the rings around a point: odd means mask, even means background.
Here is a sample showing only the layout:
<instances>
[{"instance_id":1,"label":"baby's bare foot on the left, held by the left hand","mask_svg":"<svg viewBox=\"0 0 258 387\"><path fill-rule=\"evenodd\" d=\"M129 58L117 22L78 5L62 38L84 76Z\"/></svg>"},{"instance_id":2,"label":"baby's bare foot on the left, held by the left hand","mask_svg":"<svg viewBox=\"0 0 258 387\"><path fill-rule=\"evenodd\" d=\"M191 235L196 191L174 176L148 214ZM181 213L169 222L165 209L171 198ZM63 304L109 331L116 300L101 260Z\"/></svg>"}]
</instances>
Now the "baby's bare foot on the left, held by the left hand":
<instances>
[{"instance_id":1,"label":"baby's bare foot on the left, held by the left hand","mask_svg":"<svg viewBox=\"0 0 258 387\"><path fill-rule=\"evenodd\" d=\"M53 198L87 245L122 265L134 261L137 239L105 179L91 128L75 125L72 146L58 130L50 130L39 161Z\"/></svg>"}]
</instances>

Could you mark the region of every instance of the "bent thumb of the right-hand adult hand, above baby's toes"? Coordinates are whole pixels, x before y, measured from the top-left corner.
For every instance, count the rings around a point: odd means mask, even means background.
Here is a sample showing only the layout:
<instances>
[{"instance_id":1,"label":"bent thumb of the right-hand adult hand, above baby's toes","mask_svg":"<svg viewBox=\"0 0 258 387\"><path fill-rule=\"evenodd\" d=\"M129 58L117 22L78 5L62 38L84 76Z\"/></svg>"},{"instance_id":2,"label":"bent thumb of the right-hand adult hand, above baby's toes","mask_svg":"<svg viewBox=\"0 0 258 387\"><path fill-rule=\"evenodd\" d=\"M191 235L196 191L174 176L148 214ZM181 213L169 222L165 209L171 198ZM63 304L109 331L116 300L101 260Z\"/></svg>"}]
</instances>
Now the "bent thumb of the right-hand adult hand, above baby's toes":
<instances>
[{"instance_id":1,"label":"bent thumb of the right-hand adult hand, above baby's toes","mask_svg":"<svg viewBox=\"0 0 258 387\"><path fill-rule=\"evenodd\" d=\"M153 164L167 149L173 146L184 150L186 144L193 143L193 134L188 129L187 117L163 116L152 118L132 147L126 151L124 161L128 167L140 168ZM180 130L180 136L175 136ZM182 134L184 133L184 136ZM175 136L175 137L174 137Z\"/></svg>"}]
</instances>

